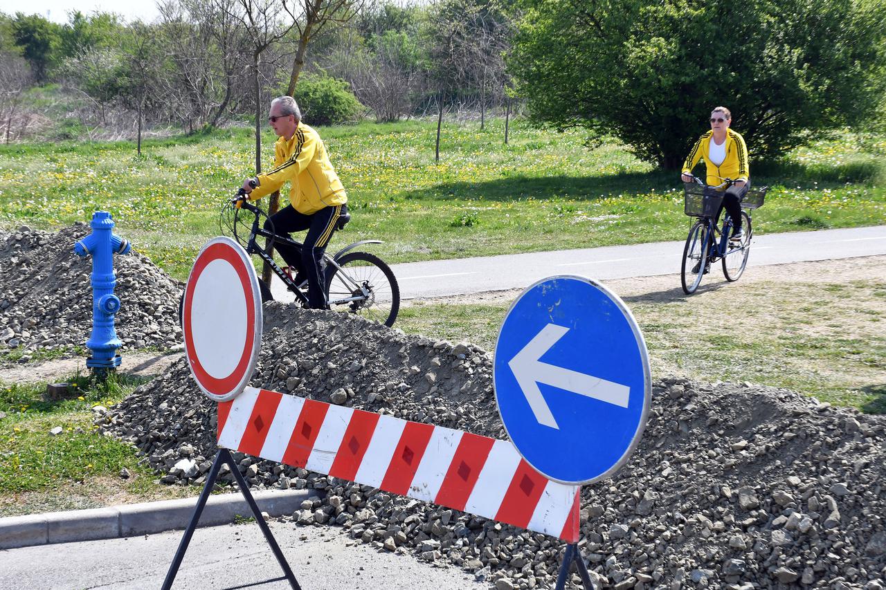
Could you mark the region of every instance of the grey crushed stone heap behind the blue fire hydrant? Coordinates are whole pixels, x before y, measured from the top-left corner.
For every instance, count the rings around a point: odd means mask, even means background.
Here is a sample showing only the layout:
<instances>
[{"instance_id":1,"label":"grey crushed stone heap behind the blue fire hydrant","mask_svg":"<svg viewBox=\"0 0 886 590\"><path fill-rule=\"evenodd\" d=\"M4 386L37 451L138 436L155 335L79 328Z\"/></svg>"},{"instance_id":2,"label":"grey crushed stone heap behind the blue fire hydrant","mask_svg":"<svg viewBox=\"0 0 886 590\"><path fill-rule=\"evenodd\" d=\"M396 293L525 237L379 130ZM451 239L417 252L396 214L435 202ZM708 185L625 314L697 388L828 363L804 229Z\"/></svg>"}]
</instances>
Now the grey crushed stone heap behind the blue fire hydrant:
<instances>
[{"instance_id":1,"label":"grey crushed stone heap behind the blue fire hydrant","mask_svg":"<svg viewBox=\"0 0 886 590\"><path fill-rule=\"evenodd\" d=\"M90 231L75 223L57 233L27 226L0 233L0 347L22 347L27 361L36 348L85 345L92 330L92 258L74 254L74 243ZM121 303L114 325L124 349L180 344L182 283L136 252L115 255L113 265Z\"/></svg>"}]
</instances>

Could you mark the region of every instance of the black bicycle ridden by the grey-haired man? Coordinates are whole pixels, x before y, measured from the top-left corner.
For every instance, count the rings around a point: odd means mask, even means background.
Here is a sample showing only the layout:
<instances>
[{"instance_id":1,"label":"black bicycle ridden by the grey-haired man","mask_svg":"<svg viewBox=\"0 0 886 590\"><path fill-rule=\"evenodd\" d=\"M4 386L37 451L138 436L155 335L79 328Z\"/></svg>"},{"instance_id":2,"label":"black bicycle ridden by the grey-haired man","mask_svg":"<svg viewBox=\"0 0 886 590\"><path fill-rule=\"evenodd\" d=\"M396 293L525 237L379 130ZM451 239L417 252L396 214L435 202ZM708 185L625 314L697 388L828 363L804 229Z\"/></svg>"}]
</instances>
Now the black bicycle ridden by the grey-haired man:
<instances>
[{"instance_id":1,"label":"black bicycle ridden by the grey-haired man","mask_svg":"<svg viewBox=\"0 0 886 590\"><path fill-rule=\"evenodd\" d=\"M237 202L240 203L237 206ZM250 217L252 219L250 220ZM307 278L296 283L291 268L281 268L268 251L258 245L258 237L266 237L270 245L282 242L291 245L299 252L302 244L288 236L280 236L274 231L260 227L260 219L268 219L268 214L245 199L244 191L238 190L233 200L225 202L221 209L220 227L228 229L237 243L249 254L256 254L268 263L274 274L283 281L286 289L295 295L302 307L307 307ZM342 214L336 229L343 229L351 220L350 213ZM273 226L272 226L273 229ZM367 244L382 244L381 240L361 240L330 256L323 254L321 268L325 275L326 299L330 309L359 314L366 319L392 326L400 311L400 285L393 271L384 260L369 252L354 252L354 248ZM261 302L274 299L267 283L259 279Z\"/></svg>"}]
</instances>

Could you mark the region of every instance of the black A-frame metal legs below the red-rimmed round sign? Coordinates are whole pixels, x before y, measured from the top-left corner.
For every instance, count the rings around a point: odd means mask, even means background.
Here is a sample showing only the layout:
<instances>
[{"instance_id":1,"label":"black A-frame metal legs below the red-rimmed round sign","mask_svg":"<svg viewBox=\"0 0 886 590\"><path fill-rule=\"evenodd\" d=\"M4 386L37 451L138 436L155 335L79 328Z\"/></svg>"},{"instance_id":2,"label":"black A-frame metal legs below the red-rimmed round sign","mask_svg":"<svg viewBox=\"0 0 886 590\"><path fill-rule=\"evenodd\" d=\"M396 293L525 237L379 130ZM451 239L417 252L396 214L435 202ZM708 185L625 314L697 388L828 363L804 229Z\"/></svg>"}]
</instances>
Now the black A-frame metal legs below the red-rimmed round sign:
<instances>
[{"instance_id":1,"label":"black A-frame metal legs below the red-rimmed round sign","mask_svg":"<svg viewBox=\"0 0 886 590\"><path fill-rule=\"evenodd\" d=\"M175 551L175 557L169 565L167 577L163 580L162 590L170 590L170 588L172 588L172 583L175 581L175 575L178 573L178 568L182 565L184 553L188 550L190 538L194 535L194 530L197 529L200 515L203 514L203 508L206 507L206 501L209 500L209 493L213 491L215 481L218 479L219 471L221 470L221 465L223 463L228 464L230 472L233 473L234 477L237 479L237 486L240 488L240 493L243 494L246 503L249 504L249 508L253 511L255 522L259 524L261 532L264 533L265 539L268 540L268 545L271 547L271 551L274 552L277 563L280 563L280 568L284 572L284 577L275 578L275 580L289 580L289 585L292 586L293 590L301 590L301 586L299 586L299 582L295 579L295 575L292 573L289 563L286 561L286 557L280 550L280 546L277 545L274 535L268 527L268 523L266 523L265 519L261 516L259 505L255 503L253 494L249 492L249 485L246 484L246 480L243 475L240 474L240 470L237 469L237 463L234 462L234 457L230 455L230 451L226 448L219 449L218 454L215 455L212 469L209 470L209 475L206 477L206 485L203 486L203 492L200 493L197 506L194 508L194 514L190 517L190 524L188 524L188 528L184 531L184 536L178 544L178 549Z\"/></svg>"}]
</instances>

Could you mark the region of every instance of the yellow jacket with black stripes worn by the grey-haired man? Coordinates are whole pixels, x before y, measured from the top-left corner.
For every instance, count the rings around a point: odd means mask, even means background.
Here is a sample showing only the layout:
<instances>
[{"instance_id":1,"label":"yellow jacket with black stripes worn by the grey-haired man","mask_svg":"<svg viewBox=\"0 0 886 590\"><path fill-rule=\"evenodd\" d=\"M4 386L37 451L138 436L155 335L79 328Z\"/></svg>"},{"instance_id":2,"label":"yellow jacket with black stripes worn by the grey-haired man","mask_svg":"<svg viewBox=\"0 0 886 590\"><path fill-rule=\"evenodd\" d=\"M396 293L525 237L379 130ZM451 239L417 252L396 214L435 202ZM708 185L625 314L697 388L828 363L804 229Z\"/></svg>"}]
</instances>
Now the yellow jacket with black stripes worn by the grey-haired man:
<instances>
[{"instance_id":1,"label":"yellow jacket with black stripes worn by the grey-haired man","mask_svg":"<svg viewBox=\"0 0 886 590\"><path fill-rule=\"evenodd\" d=\"M274 151L274 167L256 177L259 185L249 194L250 200L280 190L284 182L290 181L289 200L299 213L310 215L347 202L345 187L326 155L323 140L313 128L299 123L289 141L277 138Z\"/></svg>"}]
</instances>

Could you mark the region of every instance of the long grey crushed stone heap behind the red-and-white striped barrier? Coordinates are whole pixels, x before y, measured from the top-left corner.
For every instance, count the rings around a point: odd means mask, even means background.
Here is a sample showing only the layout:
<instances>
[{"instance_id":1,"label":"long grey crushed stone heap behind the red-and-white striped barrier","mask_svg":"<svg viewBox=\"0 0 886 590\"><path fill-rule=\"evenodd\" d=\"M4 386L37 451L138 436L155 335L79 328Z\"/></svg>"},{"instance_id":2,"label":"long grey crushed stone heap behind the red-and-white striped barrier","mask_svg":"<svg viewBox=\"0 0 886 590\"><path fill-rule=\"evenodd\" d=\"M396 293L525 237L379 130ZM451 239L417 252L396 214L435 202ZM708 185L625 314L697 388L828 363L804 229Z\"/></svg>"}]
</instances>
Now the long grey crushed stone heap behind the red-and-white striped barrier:
<instances>
[{"instance_id":1,"label":"long grey crushed stone heap behind the red-and-white striped barrier","mask_svg":"<svg viewBox=\"0 0 886 590\"><path fill-rule=\"evenodd\" d=\"M491 355L477 346L275 302L264 312L253 386L504 437ZM198 392L186 361L96 423L136 445L164 482L205 481L214 404ZM659 380L630 462L582 492L579 545L595 582L618 590L882 590L884 441L886 416L770 387ZM554 586L559 540L234 455L255 487L323 494L293 515L298 524L336 524L379 550L454 563L499 590Z\"/></svg>"}]
</instances>

